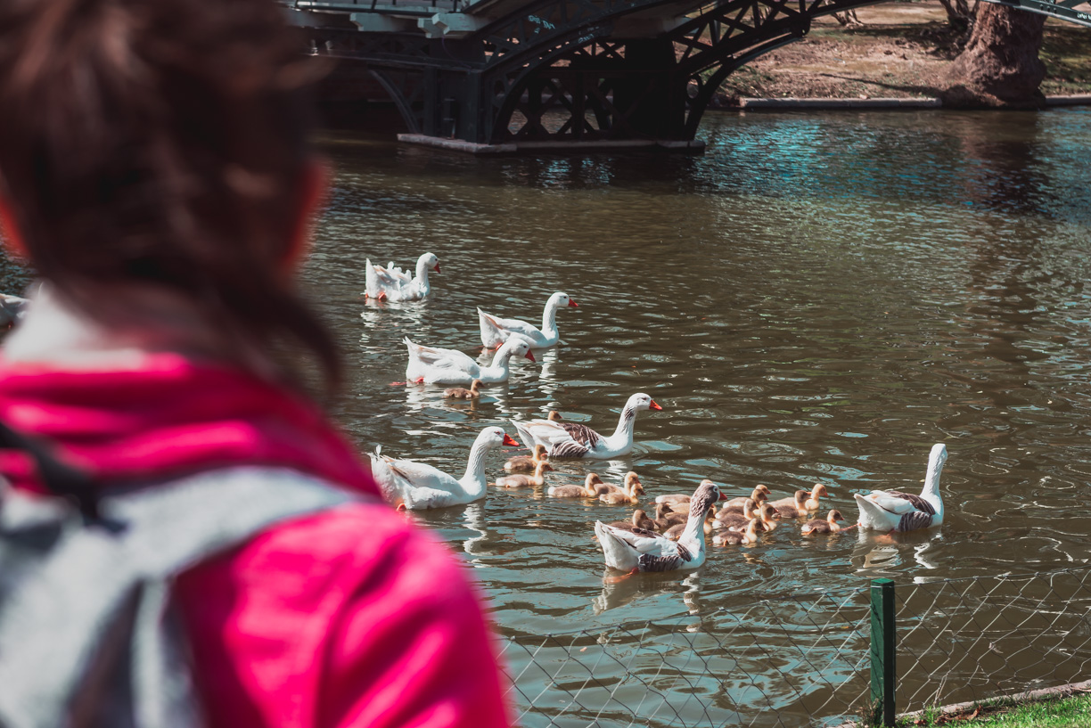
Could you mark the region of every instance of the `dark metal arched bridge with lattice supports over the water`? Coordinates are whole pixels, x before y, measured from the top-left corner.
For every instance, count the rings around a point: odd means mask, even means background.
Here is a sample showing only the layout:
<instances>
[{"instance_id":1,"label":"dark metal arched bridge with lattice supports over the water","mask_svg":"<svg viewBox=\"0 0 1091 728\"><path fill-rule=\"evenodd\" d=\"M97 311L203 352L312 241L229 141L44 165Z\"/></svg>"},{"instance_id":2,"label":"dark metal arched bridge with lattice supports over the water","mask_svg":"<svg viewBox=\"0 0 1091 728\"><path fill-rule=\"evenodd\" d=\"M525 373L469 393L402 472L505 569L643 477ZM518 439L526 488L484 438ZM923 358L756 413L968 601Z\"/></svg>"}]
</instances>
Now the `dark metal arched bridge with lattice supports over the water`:
<instances>
[{"instance_id":1,"label":"dark metal arched bridge with lattice supports over the water","mask_svg":"<svg viewBox=\"0 0 1091 728\"><path fill-rule=\"evenodd\" d=\"M281 0L312 52L367 64L409 139L477 152L699 150L735 69L878 0ZM1091 26L1088 0L990 0Z\"/></svg>"}]
</instances>

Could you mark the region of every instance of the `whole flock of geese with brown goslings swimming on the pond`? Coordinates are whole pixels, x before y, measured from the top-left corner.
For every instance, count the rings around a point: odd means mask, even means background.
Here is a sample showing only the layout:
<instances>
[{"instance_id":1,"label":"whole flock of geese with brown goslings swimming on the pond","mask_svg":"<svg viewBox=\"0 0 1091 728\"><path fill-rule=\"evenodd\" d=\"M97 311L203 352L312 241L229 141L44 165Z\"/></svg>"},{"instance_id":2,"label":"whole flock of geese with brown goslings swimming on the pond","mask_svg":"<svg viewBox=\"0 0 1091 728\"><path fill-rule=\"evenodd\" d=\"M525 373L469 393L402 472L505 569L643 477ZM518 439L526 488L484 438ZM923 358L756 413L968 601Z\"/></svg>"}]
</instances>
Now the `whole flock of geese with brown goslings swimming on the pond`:
<instances>
[{"instance_id":1,"label":"whole flock of geese with brown goslings swimming on the pond","mask_svg":"<svg viewBox=\"0 0 1091 728\"><path fill-rule=\"evenodd\" d=\"M439 259L424 253L417 261L416 275L395 266L373 265L367 261L365 296L380 301L412 301L428 296L429 271L439 272ZM406 379L416 384L452 384L447 397L473 399L480 387L507 381L512 357L535 361L533 349L560 342L556 313L576 307L567 294L555 293L546 302L541 327L517 319L502 319L478 309L481 344L495 349L490 366L479 365L457 349L424 346L407 336ZM622 408L612 434L601 434L585 425L565 422L556 413L547 419L511 420L529 456L518 456L504 464L508 475L495 479L500 488L544 488L551 461L561 458L612 460L633 450L637 413L662 409L647 394L632 395ZM399 510L432 509L470 503L485 497L488 454L518 442L501 427L487 427L470 447L466 473L455 478L439 468L382 454L382 446L371 455L371 468L384 497ZM924 489L919 496L897 490L873 490L854 494L860 509L858 523L844 525L837 510L826 518L801 524L805 535L837 533L848 528L867 528L883 533L916 530L943 523L944 504L939 476L947 460L947 449L933 445L925 473ZM603 482L591 473L582 485L552 485L552 498L597 500L606 503L637 504L645 494L636 473L628 473L621 485ZM595 522L595 535L602 546L608 566L625 572L663 572L697 569L705 562L706 538L714 546L754 544L760 534L789 521L801 522L819 509L827 496L826 486L815 485L811 492L798 490L789 498L770 501L768 487L759 485L747 496L729 499L721 486L703 480L692 493L661 494L655 499L655 517L645 510L634 511L630 521Z\"/></svg>"}]
</instances>

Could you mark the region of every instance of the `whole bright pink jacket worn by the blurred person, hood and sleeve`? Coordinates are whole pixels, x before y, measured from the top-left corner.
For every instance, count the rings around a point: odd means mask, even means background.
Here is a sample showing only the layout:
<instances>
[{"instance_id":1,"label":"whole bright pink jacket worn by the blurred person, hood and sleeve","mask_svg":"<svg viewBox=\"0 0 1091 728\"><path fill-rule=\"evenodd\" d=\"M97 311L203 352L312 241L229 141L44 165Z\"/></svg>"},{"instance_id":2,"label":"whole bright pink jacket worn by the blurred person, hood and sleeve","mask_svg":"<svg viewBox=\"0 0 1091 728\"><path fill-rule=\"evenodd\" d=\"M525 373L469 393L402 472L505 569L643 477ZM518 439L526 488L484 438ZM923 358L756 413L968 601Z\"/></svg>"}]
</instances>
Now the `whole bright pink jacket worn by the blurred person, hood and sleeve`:
<instances>
[{"instance_id":1,"label":"whole bright pink jacket worn by the blurred person, hood and sleeve","mask_svg":"<svg viewBox=\"0 0 1091 728\"><path fill-rule=\"evenodd\" d=\"M313 405L177 355L123 371L0 361L0 419L106 485L259 464L377 494ZM40 490L22 453L0 452L0 474ZM182 574L211 726L511 725L468 574L380 502L290 520Z\"/></svg>"}]
</instances>

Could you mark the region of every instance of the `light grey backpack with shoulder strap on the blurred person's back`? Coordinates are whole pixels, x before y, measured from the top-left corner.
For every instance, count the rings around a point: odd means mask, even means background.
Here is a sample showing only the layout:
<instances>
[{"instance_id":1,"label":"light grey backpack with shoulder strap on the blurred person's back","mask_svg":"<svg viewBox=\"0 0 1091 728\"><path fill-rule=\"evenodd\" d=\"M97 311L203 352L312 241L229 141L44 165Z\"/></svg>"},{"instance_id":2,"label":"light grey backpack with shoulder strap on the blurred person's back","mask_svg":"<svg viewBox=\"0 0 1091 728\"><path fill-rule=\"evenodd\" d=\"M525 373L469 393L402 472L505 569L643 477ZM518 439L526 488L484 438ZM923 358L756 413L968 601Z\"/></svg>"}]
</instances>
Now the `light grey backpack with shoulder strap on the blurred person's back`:
<instances>
[{"instance_id":1,"label":"light grey backpack with shoulder strap on the blurred person's back","mask_svg":"<svg viewBox=\"0 0 1091 728\"><path fill-rule=\"evenodd\" d=\"M20 538L50 516L5 503L0 553L16 556L0 563L22 554L33 565L8 593L0 584L0 727L204 725L168 609L173 577L278 522L360 500L283 468L206 472L107 491L97 521L70 510L58 528L55 516L37 552L21 551Z\"/></svg>"}]
</instances>

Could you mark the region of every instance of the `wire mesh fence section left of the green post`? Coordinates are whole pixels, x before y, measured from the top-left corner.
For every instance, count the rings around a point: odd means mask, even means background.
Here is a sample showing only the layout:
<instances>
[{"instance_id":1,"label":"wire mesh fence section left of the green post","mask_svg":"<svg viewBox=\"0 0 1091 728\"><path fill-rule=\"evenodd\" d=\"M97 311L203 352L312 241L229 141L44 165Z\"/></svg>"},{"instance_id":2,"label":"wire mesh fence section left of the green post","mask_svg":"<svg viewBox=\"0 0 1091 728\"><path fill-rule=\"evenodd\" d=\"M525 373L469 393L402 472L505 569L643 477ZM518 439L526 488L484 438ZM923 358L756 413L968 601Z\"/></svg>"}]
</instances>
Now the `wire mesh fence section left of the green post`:
<instances>
[{"instance_id":1,"label":"wire mesh fence section left of the green post","mask_svg":"<svg viewBox=\"0 0 1091 728\"><path fill-rule=\"evenodd\" d=\"M840 723L866 702L866 592L512 634L509 699L527 728Z\"/></svg>"}]
</instances>

